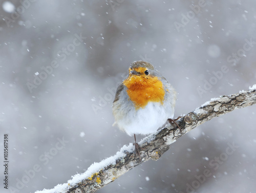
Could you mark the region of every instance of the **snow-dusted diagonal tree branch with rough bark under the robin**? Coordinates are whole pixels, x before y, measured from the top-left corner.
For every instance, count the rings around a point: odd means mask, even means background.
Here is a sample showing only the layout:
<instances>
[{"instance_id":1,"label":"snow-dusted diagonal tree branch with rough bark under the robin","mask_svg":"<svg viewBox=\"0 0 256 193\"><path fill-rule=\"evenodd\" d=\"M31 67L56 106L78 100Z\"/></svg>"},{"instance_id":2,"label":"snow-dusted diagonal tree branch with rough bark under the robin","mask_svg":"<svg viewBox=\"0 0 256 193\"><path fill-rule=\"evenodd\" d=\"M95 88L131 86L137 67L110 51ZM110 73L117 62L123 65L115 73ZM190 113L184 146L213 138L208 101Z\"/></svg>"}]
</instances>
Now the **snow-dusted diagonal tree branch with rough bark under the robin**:
<instances>
[{"instance_id":1,"label":"snow-dusted diagonal tree branch with rough bark under the robin","mask_svg":"<svg viewBox=\"0 0 256 193\"><path fill-rule=\"evenodd\" d=\"M213 117L218 117L235 109L254 105L255 103L256 85L246 91L211 99L211 101L204 103L201 107L189 112L177 121L182 129L182 133L180 133L176 126L166 125L162 130L143 138L139 142L140 147L145 149L145 151L140 152L141 162L150 159L158 160L176 139ZM59 184L53 189L37 191L37 193L94 192L113 182L141 162L138 156L135 156L133 143L130 143L129 146L123 146L115 156L106 158L99 163L94 163L85 173L73 176L72 180L69 180L68 183Z\"/></svg>"}]
</instances>

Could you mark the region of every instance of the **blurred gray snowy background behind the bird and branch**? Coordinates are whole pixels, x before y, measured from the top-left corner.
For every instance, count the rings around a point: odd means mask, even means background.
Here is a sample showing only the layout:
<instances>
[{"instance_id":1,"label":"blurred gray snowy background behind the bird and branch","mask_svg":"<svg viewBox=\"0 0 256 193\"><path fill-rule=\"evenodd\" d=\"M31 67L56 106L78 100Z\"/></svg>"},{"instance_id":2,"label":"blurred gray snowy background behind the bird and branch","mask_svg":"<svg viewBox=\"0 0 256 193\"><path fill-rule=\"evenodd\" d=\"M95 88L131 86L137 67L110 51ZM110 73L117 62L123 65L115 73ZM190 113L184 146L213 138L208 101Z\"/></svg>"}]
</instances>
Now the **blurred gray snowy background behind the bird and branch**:
<instances>
[{"instance_id":1,"label":"blurred gray snowy background behind the bird and branch","mask_svg":"<svg viewBox=\"0 0 256 193\"><path fill-rule=\"evenodd\" d=\"M151 62L176 88L175 117L256 83L253 0L0 3L0 156L8 133L10 192L66 183L134 141L112 127L111 108L133 61ZM212 119L98 192L254 192L255 108Z\"/></svg>"}]
</instances>

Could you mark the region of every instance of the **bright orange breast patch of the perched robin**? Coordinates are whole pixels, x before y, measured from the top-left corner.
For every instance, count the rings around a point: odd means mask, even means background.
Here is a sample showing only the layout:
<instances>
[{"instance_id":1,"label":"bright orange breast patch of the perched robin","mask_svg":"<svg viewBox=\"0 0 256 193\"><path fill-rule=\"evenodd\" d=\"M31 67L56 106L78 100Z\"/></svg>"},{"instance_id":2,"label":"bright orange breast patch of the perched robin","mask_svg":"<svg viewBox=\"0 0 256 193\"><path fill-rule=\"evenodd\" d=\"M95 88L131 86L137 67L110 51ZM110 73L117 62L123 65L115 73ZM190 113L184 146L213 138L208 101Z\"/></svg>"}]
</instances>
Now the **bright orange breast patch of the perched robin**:
<instances>
[{"instance_id":1,"label":"bright orange breast patch of the perched robin","mask_svg":"<svg viewBox=\"0 0 256 193\"><path fill-rule=\"evenodd\" d=\"M148 102L163 104L165 91L157 77L130 76L123 84L127 87L127 94L136 109L144 108Z\"/></svg>"}]
</instances>

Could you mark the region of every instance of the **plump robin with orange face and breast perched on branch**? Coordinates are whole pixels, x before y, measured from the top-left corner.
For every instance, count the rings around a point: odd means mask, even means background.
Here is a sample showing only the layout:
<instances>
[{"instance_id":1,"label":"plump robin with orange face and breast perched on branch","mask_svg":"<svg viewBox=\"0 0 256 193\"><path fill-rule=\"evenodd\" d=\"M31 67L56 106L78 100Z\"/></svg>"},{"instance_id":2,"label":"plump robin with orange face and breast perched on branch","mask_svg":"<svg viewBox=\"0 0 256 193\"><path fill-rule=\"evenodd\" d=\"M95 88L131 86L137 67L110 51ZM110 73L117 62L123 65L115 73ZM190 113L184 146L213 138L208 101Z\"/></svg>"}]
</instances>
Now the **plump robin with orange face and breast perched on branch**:
<instances>
[{"instance_id":1,"label":"plump robin with orange face and breast perched on branch","mask_svg":"<svg viewBox=\"0 0 256 193\"><path fill-rule=\"evenodd\" d=\"M134 135L135 153L139 158L140 147L135 135L154 133L167 120L176 124L177 119L173 120L176 95L172 85L152 64L145 61L133 62L129 76L117 87L113 102L113 125L130 136Z\"/></svg>"}]
</instances>

